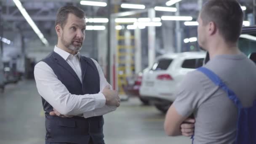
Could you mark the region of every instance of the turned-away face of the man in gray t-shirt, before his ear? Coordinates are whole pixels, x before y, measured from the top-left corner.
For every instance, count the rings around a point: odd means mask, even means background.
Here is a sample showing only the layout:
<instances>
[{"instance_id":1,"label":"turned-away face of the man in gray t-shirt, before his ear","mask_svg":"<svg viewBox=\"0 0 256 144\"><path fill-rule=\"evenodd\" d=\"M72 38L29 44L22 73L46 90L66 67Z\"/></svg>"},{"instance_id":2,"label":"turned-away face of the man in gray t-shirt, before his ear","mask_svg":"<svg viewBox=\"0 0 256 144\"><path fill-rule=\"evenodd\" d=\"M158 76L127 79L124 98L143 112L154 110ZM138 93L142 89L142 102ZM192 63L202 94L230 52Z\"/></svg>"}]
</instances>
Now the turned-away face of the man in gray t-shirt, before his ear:
<instances>
[{"instance_id":1,"label":"turned-away face of the man in gray t-shirt, before his ear","mask_svg":"<svg viewBox=\"0 0 256 144\"><path fill-rule=\"evenodd\" d=\"M199 14L197 18L198 27L197 27L197 41L201 48L205 49L205 43L206 43L206 27L203 25L203 20L201 19L201 16Z\"/></svg>"}]
</instances>

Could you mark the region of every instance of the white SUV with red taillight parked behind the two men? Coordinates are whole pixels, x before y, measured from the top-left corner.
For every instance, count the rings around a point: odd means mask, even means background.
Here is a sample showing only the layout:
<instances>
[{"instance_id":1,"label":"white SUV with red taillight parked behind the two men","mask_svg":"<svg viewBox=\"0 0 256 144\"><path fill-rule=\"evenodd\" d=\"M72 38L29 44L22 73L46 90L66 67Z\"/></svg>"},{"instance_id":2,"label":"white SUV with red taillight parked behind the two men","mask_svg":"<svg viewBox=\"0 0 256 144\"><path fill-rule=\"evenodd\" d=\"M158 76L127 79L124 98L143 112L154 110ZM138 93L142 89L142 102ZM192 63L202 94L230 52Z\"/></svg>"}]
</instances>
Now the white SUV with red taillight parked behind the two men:
<instances>
[{"instance_id":1,"label":"white SUV with red taillight parked behind the two men","mask_svg":"<svg viewBox=\"0 0 256 144\"><path fill-rule=\"evenodd\" d=\"M205 52L169 53L157 57L149 71L143 73L139 90L141 98L149 100L162 112L167 112L176 87L187 72L203 65Z\"/></svg>"}]
</instances>

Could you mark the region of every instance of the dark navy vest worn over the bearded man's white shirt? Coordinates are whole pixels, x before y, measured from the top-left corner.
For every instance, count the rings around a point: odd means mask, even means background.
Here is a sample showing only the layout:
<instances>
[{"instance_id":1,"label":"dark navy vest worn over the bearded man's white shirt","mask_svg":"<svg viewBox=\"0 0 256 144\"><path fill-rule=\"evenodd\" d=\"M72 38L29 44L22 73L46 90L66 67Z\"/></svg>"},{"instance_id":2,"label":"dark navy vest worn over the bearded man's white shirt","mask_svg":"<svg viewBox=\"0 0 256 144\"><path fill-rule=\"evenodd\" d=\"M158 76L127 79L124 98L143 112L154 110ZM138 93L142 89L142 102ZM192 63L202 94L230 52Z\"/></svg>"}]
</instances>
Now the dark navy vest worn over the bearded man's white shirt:
<instances>
[{"instance_id":1,"label":"dark navy vest worn over the bearded man's white shirt","mask_svg":"<svg viewBox=\"0 0 256 144\"><path fill-rule=\"evenodd\" d=\"M82 83L67 61L54 51L42 61L53 69L55 75L71 94L99 93L99 72L90 58L84 56L80 58ZM42 98L42 100L43 109L45 110L46 141L88 144L91 137L94 144L104 144L103 116L90 118L51 116L49 113L53 111L53 107L45 99Z\"/></svg>"}]
</instances>

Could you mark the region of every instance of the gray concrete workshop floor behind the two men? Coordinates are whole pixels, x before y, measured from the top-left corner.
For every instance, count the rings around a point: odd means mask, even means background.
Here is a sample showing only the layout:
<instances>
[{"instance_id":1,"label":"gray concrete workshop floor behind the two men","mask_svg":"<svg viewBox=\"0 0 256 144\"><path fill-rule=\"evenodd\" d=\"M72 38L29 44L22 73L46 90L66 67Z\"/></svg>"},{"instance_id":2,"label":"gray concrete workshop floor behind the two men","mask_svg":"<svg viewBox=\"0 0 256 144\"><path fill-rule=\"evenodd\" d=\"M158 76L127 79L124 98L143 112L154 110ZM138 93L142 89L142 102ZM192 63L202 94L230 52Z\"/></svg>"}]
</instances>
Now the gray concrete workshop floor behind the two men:
<instances>
[{"instance_id":1,"label":"gray concrete workshop floor behind the two men","mask_svg":"<svg viewBox=\"0 0 256 144\"><path fill-rule=\"evenodd\" d=\"M106 144L190 144L188 137L168 137L164 115L136 98L104 116ZM35 82L7 85L0 93L0 144L44 144L44 116Z\"/></svg>"}]
</instances>

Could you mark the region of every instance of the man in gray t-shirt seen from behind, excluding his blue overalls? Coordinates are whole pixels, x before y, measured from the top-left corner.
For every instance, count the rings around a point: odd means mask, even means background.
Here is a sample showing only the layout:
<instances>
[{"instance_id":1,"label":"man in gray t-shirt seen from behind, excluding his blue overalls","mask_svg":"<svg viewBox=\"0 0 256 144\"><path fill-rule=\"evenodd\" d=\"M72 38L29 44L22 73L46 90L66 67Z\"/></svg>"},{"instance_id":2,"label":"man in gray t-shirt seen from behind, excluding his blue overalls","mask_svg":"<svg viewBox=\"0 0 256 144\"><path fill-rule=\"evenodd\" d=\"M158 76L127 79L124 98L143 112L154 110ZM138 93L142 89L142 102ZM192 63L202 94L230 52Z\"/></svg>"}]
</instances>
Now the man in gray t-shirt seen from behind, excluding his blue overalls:
<instances>
[{"instance_id":1,"label":"man in gray t-shirt seen from behind, excluding his blue overalls","mask_svg":"<svg viewBox=\"0 0 256 144\"><path fill-rule=\"evenodd\" d=\"M256 65L237 48L243 12L236 0L209 0L198 19L198 43L209 52L204 67L213 71L249 107L256 100ZM181 123L195 117L194 144L232 144L237 108L221 88L199 71L189 72L165 118L165 132L180 135Z\"/></svg>"}]
</instances>

